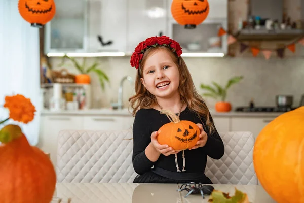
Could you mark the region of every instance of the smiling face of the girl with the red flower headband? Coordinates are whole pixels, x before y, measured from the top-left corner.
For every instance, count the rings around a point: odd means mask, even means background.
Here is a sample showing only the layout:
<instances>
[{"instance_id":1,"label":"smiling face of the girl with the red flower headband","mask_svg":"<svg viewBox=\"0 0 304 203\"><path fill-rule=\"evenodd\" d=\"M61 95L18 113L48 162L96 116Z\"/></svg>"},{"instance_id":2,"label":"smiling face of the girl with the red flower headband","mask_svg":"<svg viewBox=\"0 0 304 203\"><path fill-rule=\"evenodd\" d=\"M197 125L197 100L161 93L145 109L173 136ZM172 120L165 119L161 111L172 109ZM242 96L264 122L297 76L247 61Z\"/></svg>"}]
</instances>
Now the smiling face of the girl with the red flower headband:
<instances>
[{"instance_id":1,"label":"smiling face of the girl with the red flower headband","mask_svg":"<svg viewBox=\"0 0 304 203\"><path fill-rule=\"evenodd\" d=\"M140 80L156 98L171 98L178 94L178 67L164 49L155 51L146 59Z\"/></svg>"}]
</instances>

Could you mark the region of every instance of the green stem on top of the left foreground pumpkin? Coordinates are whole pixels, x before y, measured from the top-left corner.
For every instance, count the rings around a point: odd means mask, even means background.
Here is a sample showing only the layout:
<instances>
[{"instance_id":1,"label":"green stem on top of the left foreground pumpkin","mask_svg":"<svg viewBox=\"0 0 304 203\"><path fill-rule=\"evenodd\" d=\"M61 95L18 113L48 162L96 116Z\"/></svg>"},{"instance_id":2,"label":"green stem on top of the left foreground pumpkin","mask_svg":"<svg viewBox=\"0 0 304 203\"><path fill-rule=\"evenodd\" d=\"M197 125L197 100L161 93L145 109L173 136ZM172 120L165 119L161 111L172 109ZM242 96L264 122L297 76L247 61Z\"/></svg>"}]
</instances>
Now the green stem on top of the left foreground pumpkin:
<instances>
[{"instance_id":1,"label":"green stem on top of the left foreground pumpkin","mask_svg":"<svg viewBox=\"0 0 304 203\"><path fill-rule=\"evenodd\" d=\"M22 130L18 125L9 124L0 130L0 142L9 143L21 135Z\"/></svg>"}]
</instances>

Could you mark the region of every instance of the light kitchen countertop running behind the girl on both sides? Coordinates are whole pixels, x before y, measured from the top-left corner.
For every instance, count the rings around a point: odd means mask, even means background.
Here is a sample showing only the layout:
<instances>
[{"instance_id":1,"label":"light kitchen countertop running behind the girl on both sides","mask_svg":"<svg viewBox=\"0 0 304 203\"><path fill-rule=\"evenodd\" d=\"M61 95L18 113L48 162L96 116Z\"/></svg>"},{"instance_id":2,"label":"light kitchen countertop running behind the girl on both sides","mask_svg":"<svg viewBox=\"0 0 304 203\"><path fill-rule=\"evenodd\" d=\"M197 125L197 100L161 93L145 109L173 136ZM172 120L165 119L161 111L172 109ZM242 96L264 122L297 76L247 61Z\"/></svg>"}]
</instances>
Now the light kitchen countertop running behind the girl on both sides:
<instances>
[{"instance_id":1,"label":"light kitchen countertop running behind the girl on both sides","mask_svg":"<svg viewBox=\"0 0 304 203\"><path fill-rule=\"evenodd\" d=\"M131 111L130 111L131 112ZM88 110L75 110L75 111L49 111L43 110L41 115L80 115L80 116L132 116L128 109L111 110L109 108L102 109L88 109ZM211 115L214 117L277 117L284 112L227 112L219 113L210 110Z\"/></svg>"}]
</instances>

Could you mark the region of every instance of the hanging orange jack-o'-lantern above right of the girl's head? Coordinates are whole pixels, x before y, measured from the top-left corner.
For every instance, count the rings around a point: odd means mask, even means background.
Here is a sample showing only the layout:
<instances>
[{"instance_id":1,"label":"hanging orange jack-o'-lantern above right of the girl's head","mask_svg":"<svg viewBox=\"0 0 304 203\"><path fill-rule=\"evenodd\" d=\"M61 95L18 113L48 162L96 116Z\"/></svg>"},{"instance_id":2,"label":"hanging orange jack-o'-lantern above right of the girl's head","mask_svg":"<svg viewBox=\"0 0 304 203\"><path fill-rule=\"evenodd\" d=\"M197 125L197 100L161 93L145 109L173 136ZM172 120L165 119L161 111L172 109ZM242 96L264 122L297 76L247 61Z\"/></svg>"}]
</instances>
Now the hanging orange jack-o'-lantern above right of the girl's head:
<instances>
[{"instance_id":1,"label":"hanging orange jack-o'-lantern above right of the girl's head","mask_svg":"<svg viewBox=\"0 0 304 203\"><path fill-rule=\"evenodd\" d=\"M209 3L207 0L173 0L171 13L178 24L193 29L207 18Z\"/></svg>"}]
</instances>

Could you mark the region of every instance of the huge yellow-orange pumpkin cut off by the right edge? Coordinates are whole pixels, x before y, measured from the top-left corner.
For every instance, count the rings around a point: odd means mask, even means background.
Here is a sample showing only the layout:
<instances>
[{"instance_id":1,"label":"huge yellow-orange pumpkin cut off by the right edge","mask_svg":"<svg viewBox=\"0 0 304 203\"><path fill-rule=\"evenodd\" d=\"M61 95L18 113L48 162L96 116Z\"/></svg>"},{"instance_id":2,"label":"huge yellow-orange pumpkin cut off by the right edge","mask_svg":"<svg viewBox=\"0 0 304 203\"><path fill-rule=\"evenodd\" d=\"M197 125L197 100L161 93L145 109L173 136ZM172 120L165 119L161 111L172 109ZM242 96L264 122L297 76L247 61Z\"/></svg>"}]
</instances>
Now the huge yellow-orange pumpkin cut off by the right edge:
<instances>
[{"instance_id":1,"label":"huge yellow-orange pumpkin cut off by the right edge","mask_svg":"<svg viewBox=\"0 0 304 203\"><path fill-rule=\"evenodd\" d=\"M304 107L278 116L261 130L253 164L260 184L276 202L304 202Z\"/></svg>"}]
</instances>

